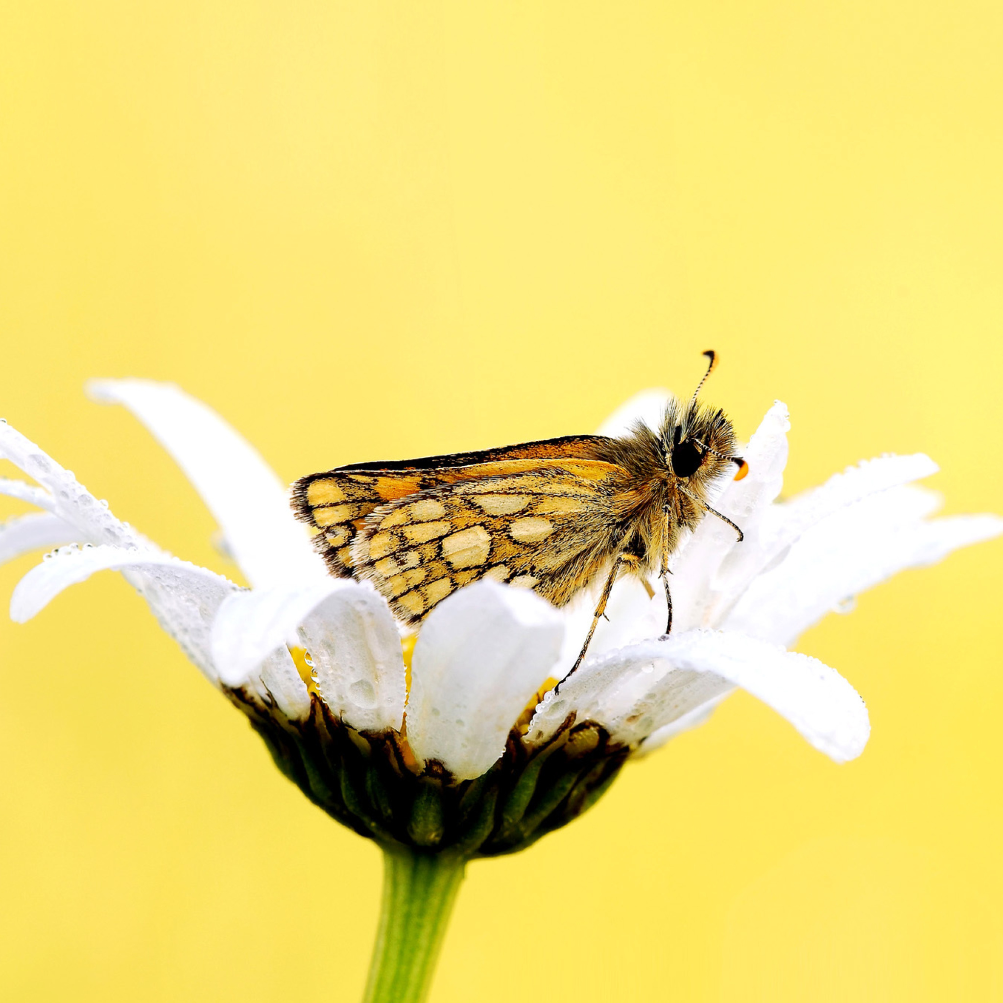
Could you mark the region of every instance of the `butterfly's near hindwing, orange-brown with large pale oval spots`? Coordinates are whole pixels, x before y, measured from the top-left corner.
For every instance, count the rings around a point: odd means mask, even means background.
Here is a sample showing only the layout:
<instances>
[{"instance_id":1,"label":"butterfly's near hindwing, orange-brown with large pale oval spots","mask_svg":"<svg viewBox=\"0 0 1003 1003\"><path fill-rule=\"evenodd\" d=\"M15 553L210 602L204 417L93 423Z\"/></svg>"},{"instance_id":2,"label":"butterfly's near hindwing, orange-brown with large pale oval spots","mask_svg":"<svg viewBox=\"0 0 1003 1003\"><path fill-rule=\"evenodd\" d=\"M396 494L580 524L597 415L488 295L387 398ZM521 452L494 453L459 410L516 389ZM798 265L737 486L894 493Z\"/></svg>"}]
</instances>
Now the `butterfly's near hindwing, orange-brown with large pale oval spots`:
<instances>
[{"instance_id":1,"label":"butterfly's near hindwing, orange-brown with large pale oval spots","mask_svg":"<svg viewBox=\"0 0 1003 1003\"><path fill-rule=\"evenodd\" d=\"M526 468L517 468L521 464ZM615 555L626 471L587 459L501 460L380 506L351 548L353 574L417 623L481 578L567 603ZM472 467L467 468L472 469Z\"/></svg>"}]
</instances>

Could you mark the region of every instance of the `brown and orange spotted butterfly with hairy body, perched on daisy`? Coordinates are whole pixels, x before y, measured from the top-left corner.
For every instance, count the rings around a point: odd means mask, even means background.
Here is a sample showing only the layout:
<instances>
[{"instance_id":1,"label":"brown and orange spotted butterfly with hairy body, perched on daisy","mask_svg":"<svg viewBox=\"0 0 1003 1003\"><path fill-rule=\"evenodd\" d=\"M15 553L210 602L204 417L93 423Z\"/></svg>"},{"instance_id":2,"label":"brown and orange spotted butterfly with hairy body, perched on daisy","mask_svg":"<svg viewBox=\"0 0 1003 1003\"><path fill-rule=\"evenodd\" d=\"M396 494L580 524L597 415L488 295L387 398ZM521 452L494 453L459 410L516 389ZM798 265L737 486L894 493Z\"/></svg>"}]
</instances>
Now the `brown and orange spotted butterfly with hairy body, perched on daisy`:
<instances>
[{"instance_id":1,"label":"brown and orange spotted butterfly with hairy body, perched on daisy","mask_svg":"<svg viewBox=\"0 0 1003 1003\"><path fill-rule=\"evenodd\" d=\"M731 422L698 401L670 398L655 429L566 435L418 459L353 463L293 484L298 519L337 578L371 582L394 614L420 623L456 589L493 579L564 606L603 581L577 668L621 573L650 590L658 574L672 629L669 559L705 515L742 532L707 498L735 454ZM574 671L574 668L572 671Z\"/></svg>"}]
</instances>

